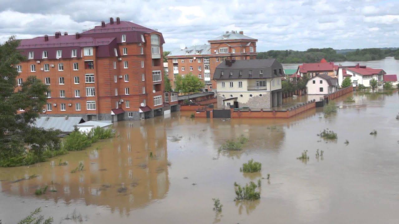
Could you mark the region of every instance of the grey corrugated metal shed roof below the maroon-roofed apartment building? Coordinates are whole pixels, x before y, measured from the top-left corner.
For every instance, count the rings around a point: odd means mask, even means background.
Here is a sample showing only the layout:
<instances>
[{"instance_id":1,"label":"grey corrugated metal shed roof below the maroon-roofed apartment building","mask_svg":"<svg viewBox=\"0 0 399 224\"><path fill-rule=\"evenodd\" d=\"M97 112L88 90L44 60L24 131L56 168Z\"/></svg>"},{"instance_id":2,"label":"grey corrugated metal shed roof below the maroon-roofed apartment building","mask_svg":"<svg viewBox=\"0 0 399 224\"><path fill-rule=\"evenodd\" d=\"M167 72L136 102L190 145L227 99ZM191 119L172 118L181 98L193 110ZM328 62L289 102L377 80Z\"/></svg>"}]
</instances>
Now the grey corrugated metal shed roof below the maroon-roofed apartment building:
<instances>
[{"instance_id":1,"label":"grey corrugated metal shed roof below the maroon-roofed apartment building","mask_svg":"<svg viewBox=\"0 0 399 224\"><path fill-rule=\"evenodd\" d=\"M72 132L73 126L85 122L82 117L40 117L33 126L44 129L59 129L61 132Z\"/></svg>"}]
</instances>

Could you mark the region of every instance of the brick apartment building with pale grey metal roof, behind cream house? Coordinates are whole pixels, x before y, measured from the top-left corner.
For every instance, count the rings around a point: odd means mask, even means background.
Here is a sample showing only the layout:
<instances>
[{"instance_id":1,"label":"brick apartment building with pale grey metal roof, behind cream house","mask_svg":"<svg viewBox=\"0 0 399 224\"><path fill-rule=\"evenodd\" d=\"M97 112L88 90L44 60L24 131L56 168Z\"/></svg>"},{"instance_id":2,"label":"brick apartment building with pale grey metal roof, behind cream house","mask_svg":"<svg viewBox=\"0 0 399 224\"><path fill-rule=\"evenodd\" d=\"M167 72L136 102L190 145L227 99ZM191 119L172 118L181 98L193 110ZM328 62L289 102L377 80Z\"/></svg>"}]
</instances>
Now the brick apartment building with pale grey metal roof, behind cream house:
<instances>
[{"instance_id":1,"label":"brick apartment building with pale grey metal roof, behind cream house","mask_svg":"<svg viewBox=\"0 0 399 224\"><path fill-rule=\"evenodd\" d=\"M227 59L256 59L258 40L244 35L243 31L226 31L208 41L209 44L194 45L172 50L167 56L169 80L174 88L176 75L192 73L205 82L205 92L215 90L213 73L217 65Z\"/></svg>"}]
</instances>

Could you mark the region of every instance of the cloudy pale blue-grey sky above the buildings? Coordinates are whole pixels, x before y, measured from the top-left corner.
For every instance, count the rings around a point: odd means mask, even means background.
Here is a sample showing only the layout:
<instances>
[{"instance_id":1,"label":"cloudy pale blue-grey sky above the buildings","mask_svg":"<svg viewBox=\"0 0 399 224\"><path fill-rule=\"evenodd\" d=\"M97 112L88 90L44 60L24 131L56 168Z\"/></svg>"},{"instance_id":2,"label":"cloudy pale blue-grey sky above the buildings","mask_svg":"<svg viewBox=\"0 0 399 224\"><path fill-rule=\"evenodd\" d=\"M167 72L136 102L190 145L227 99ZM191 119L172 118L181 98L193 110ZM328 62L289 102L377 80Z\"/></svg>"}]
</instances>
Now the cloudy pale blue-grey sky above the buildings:
<instances>
[{"instance_id":1,"label":"cloudy pale blue-grey sky above the buildings","mask_svg":"<svg viewBox=\"0 0 399 224\"><path fill-rule=\"evenodd\" d=\"M399 0L0 0L0 41L81 32L117 16L158 29L164 50L227 30L259 39L257 51L399 47Z\"/></svg>"}]
</instances>

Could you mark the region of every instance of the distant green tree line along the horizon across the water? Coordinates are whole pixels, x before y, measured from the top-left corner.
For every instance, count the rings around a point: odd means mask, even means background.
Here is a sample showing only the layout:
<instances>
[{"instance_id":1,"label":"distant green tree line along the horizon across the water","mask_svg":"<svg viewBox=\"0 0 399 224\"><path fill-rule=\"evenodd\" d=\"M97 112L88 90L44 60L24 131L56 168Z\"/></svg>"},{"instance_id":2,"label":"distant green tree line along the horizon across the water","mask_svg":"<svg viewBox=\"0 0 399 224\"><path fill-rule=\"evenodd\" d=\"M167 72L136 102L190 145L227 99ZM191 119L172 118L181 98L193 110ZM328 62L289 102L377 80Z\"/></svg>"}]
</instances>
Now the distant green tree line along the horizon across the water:
<instances>
[{"instance_id":1,"label":"distant green tree line along the horizon across the water","mask_svg":"<svg viewBox=\"0 0 399 224\"><path fill-rule=\"evenodd\" d=\"M274 58L280 63L315 63L323 58L327 61L373 61L385 57L395 57L399 60L399 49L365 48L341 54L329 47L310 48L306 51L270 50L259 52L257 55L257 59Z\"/></svg>"}]
</instances>

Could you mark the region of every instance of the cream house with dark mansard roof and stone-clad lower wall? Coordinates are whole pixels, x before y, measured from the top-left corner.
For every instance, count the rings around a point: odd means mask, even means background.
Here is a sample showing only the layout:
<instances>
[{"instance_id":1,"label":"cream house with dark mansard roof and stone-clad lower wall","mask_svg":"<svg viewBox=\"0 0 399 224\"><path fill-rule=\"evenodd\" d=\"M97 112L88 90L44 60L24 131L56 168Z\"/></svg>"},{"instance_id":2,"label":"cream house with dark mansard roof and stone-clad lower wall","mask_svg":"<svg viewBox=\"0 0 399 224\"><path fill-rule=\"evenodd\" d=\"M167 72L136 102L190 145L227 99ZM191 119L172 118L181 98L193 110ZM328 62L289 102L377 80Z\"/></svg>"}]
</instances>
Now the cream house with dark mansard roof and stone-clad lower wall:
<instances>
[{"instance_id":1,"label":"cream house with dark mansard roof and stone-clad lower wall","mask_svg":"<svg viewBox=\"0 0 399 224\"><path fill-rule=\"evenodd\" d=\"M215 69L217 107L271 109L282 104L282 65L276 59L227 60Z\"/></svg>"}]
</instances>

